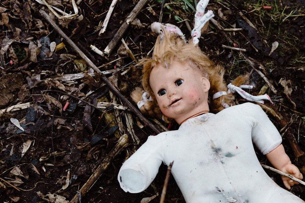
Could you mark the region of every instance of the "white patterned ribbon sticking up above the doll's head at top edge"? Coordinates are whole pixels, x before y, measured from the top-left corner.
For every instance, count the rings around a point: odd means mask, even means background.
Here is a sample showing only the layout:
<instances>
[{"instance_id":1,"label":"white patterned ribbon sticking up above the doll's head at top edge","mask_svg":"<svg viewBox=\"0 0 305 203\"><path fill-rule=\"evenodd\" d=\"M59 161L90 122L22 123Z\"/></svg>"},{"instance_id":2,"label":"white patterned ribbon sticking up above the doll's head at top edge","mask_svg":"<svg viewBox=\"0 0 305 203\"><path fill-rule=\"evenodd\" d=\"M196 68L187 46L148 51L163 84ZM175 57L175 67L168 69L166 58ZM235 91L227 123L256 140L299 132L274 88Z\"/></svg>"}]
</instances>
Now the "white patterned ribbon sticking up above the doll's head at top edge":
<instances>
[{"instance_id":1,"label":"white patterned ribbon sticking up above the doll's head at top edge","mask_svg":"<svg viewBox=\"0 0 305 203\"><path fill-rule=\"evenodd\" d=\"M195 25L194 29L192 30L192 37L193 37L193 44L199 43L199 38L201 37L201 29L203 26L214 17L213 11L208 10L206 14L204 14L204 10L208 5L209 0L200 0L196 6L196 13L195 13Z\"/></svg>"}]
</instances>

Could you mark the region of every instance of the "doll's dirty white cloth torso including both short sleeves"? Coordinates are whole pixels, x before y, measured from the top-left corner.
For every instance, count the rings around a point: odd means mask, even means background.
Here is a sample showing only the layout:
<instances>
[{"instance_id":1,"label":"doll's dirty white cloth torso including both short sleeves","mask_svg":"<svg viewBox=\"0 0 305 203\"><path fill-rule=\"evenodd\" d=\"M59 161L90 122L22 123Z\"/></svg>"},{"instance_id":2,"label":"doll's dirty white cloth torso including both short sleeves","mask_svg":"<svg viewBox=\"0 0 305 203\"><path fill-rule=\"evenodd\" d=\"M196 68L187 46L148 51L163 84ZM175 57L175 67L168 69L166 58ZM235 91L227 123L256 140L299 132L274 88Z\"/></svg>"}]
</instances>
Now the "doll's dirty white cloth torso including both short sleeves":
<instances>
[{"instance_id":1,"label":"doll's dirty white cloth torso including both short sleeves","mask_svg":"<svg viewBox=\"0 0 305 203\"><path fill-rule=\"evenodd\" d=\"M160 164L174 161L171 172L186 202L304 202L271 180L253 148L267 154L281 142L260 106L236 105L149 136L125 161L118 180L126 192L144 191Z\"/></svg>"}]
</instances>

